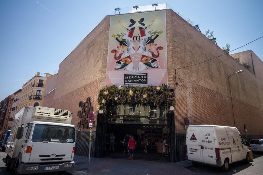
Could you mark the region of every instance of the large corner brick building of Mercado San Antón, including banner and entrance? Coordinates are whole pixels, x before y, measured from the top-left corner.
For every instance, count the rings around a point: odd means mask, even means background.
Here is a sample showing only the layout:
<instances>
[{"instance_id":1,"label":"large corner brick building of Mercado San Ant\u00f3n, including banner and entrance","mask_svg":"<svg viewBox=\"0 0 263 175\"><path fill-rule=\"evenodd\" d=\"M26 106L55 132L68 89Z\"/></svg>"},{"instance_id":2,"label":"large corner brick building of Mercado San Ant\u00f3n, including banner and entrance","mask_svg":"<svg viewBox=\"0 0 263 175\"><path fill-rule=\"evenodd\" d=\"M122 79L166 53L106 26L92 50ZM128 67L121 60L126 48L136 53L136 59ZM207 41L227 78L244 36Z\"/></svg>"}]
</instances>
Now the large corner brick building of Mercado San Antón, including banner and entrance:
<instances>
[{"instance_id":1,"label":"large corner brick building of Mercado San Ant\u00f3n, including banner and entrance","mask_svg":"<svg viewBox=\"0 0 263 175\"><path fill-rule=\"evenodd\" d=\"M143 38L147 39L145 35L149 33L148 39L158 37L147 45L148 40ZM144 46L143 51L147 53L140 50ZM130 49L134 51L130 53ZM90 132L87 123L89 112L93 110L91 156L122 156L122 149L117 150L119 154L107 151L108 134L114 132L122 141L125 132L129 132L138 133L139 142L145 135L150 136L149 153L152 151L156 155L159 143L164 143L163 153L167 154L164 160L183 161L186 119L189 125L235 126L247 140L263 136L263 62L250 53L253 71L235 61L171 9L106 16L60 63L59 73L47 77L42 106L73 112L72 124L83 129L81 140L76 142L76 155L88 156ZM139 63L136 63L137 57ZM233 74L239 70L244 71ZM147 84L138 86L135 83L138 79L126 77L135 74L147 74L147 78L142 79L148 80ZM141 88L146 85L152 86L142 92ZM125 87L133 90L133 94L127 96L134 101L119 102L120 98L116 98L119 94L109 97L112 91L123 93L121 88ZM151 105L156 99L150 96L159 88L163 94L172 92L175 104L167 100L165 94L167 103ZM135 99L135 94L140 99ZM145 96L142 98L142 95ZM162 97L157 100L159 98ZM150 99L149 105L144 99ZM141 143L139 147L144 148ZM152 158L143 153L137 155L152 160L158 156Z\"/></svg>"}]
</instances>

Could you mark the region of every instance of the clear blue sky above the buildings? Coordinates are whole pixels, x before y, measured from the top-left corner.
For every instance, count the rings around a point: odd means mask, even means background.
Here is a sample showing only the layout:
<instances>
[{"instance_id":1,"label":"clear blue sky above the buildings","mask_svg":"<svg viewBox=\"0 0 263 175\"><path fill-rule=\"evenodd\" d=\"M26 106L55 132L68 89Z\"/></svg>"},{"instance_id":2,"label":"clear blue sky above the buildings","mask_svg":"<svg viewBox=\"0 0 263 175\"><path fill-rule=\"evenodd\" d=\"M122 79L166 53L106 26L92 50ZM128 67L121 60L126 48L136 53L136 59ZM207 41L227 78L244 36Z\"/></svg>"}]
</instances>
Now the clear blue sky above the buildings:
<instances>
[{"instance_id":1,"label":"clear blue sky above the buildings","mask_svg":"<svg viewBox=\"0 0 263 175\"><path fill-rule=\"evenodd\" d=\"M214 31L218 46L239 48L263 36L261 0L1 0L0 101L22 88L37 72L54 74L59 64L106 16L132 6L165 4ZM263 60L263 38L230 53L251 49Z\"/></svg>"}]
</instances>

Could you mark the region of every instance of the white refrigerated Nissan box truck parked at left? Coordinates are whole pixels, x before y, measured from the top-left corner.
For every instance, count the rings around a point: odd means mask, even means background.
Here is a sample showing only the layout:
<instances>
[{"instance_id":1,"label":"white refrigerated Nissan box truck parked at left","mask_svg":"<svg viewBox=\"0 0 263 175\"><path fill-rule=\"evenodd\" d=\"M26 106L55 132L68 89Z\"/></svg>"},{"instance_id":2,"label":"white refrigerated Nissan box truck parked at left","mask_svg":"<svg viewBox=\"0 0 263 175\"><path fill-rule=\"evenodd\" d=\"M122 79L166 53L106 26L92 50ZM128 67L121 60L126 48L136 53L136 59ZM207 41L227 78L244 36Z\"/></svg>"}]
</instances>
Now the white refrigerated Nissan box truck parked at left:
<instances>
[{"instance_id":1,"label":"white refrigerated Nissan box truck parked at left","mask_svg":"<svg viewBox=\"0 0 263 175\"><path fill-rule=\"evenodd\" d=\"M15 174L58 172L74 168L75 142L81 129L71 125L72 113L47 107L24 107L16 113L5 165Z\"/></svg>"}]
</instances>

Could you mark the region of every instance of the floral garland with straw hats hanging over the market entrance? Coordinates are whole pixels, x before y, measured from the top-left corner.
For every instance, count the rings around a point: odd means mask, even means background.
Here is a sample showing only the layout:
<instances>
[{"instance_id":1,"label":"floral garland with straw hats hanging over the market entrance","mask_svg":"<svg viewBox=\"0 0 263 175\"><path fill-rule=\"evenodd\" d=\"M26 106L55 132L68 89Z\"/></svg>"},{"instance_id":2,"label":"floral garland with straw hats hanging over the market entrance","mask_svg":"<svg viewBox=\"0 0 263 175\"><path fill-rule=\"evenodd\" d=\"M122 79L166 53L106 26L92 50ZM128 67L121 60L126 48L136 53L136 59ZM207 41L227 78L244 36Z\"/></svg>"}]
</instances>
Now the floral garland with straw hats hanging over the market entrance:
<instances>
[{"instance_id":1,"label":"floral garland with straw hats hanging over the market entrance","mask_svg":"<svg viewBox=\"0 0 263 175\"><path fill-rule=\"evenodd\" d=\"M151 105L161 107L170 102L175 105L174 92L167 86L119 86L115 85L103 88L98 97L97 110L103 110L105 115L107 105ZM167 111L168 112L168 111Z\"/></svg>"}]
</instances>

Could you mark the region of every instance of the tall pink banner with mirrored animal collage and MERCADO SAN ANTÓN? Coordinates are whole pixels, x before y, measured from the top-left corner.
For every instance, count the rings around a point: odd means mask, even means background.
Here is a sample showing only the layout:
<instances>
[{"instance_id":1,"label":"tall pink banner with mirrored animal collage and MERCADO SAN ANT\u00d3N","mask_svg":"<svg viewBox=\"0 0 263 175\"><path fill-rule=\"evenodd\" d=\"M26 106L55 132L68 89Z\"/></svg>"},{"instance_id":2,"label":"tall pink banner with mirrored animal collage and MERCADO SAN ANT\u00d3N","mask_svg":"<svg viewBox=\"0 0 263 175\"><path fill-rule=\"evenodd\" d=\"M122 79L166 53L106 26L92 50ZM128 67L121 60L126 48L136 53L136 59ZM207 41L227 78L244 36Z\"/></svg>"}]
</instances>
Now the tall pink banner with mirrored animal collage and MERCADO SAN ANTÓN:
<instances>
[{"instance_id":1,"label":"tall pink banner with mirrored animal collage and MERCADO SAN ANT\u00d3N","mask_svg":"<svg viewBox=\"0 0 263 175\"><path fill-rule=\"evenodd\" d=\"M165 11L110 19L106 86L167 84Z\"/></svg>"}]
</instances>

